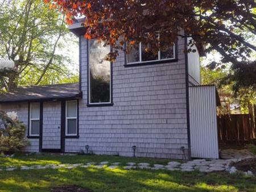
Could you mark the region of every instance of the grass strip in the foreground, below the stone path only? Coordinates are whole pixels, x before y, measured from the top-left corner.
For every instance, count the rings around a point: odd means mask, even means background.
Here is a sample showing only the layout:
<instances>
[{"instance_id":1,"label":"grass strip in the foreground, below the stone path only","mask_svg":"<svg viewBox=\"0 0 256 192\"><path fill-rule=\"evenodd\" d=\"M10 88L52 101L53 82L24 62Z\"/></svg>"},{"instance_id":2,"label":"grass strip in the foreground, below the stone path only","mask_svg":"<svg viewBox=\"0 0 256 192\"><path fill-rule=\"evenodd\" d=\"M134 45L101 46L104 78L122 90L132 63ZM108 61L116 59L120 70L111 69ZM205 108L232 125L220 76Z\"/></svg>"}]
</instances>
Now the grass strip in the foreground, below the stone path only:
<instances>
[{"instance_id":1,"label":"grass strip in the foreground, below the stone path only","mask_svg":"<svg viewBox=\"0 0 256 192\"><path fill-rule=\"evenodd\" d=\"M93 191L255 191L255 178L219 173L77 168L3 172L0 191L49 191L77 185Z\"/></svg>"}]
</instances>

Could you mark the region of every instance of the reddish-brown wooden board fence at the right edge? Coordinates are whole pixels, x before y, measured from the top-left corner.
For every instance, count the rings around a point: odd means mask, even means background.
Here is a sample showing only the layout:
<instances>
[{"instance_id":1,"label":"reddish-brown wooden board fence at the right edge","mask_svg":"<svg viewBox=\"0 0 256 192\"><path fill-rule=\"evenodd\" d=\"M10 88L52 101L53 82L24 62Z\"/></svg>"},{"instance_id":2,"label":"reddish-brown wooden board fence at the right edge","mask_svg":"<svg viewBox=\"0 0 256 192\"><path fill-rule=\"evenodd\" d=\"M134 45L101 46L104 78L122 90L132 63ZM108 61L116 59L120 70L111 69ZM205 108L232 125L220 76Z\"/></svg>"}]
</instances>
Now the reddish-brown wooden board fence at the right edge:
<instances>
[{"instance_id":1,"label":"reddish-brown wooden board fence at the right edge","mask_svg":"<svg viewBox=\"0 0 256 192\"><path fill-rule=\"evenodd\" d=\"M253 122L253 115L251 114L218 116L218 140L225 142L255 139L255 124Z\"/></svg>"}]
</instances>

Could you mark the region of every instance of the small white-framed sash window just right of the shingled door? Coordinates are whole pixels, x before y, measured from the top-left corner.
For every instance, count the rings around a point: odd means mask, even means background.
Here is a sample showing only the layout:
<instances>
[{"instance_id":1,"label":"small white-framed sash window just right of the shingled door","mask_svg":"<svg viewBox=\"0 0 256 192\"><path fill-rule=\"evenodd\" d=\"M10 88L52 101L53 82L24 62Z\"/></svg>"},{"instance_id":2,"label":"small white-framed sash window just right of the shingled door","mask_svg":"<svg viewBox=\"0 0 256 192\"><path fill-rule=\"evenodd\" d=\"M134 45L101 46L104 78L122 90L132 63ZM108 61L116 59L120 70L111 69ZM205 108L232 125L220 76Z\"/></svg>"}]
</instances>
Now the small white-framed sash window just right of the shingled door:
<instances>
[{"instance_id":1,"label":"small white-framed sash window just right of the shingled door","mask_svg":"<svg viewBox=\"0 0 256 192\"><path fill-rule=\"evenodd\" d=\"M77 135L77 101L66 102L66 136Z\"/></svg>"}]
</instances>

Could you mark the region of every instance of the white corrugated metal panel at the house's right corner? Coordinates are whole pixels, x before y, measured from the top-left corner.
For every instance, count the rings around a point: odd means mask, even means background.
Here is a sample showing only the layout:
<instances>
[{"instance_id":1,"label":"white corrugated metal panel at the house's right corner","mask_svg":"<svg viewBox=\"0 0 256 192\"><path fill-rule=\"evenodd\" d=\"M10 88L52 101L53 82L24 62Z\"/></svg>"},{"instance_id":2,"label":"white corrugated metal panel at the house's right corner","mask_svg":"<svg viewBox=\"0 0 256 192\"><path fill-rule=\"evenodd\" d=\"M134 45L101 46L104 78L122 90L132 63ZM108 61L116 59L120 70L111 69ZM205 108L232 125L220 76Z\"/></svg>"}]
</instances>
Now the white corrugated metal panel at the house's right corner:
<instances>
[{"instance_id":1,"label":"white corrugated metal panel at the house's right corner","mask_svg":"<svg viewBox=\"0 0 256 192\"><path fill-rule=\"evenodd\" d=\"M191 157L218 158L215 86L189 87Z\"/></svg>"}]
</instances>

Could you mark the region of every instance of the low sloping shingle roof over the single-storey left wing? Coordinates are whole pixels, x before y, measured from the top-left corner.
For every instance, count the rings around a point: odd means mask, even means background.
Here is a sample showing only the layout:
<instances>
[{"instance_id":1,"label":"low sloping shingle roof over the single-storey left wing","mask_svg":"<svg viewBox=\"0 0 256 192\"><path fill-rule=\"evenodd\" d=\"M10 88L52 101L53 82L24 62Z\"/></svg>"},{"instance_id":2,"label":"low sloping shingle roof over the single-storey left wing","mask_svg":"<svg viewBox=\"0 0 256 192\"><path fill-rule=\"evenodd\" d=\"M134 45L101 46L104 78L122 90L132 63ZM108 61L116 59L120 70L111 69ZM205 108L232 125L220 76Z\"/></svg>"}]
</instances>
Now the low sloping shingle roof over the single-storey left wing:
<instances>
[{"instance_id":1,"label":"low sloping shingle roof over the single-storey left wing","mask_svg":"<svg viewBox=\"0 0 256 192\"><path fill-rule=\"evenodd\" d=\"M0 103L23 101L53 101L82 98L79 83L18 87L0 94Z\"/></svg>"}]
</instances>

